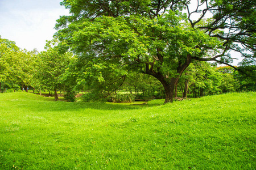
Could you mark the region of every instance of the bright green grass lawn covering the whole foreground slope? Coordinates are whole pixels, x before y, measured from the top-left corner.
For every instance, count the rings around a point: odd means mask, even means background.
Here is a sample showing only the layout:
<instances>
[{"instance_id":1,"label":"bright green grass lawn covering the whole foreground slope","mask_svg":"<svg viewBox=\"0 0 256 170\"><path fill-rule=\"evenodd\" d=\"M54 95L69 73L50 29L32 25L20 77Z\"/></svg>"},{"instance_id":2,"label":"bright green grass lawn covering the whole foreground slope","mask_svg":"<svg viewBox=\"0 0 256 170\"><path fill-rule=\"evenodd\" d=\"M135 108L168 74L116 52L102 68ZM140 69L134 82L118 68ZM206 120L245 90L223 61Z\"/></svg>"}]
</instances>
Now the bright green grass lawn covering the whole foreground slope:
<instances>
[{"instance_id":1,"label":"bright green grass lawn covering the whole foreground slope","mask_svg":"<svg viewBox=\"0 0 256 170\"><path fill-rule=\"evenodd\" d=\"M255 169L256 93L162 105L0 94L0 169Z\"/></svg>"}]
</instances>

